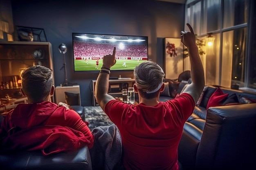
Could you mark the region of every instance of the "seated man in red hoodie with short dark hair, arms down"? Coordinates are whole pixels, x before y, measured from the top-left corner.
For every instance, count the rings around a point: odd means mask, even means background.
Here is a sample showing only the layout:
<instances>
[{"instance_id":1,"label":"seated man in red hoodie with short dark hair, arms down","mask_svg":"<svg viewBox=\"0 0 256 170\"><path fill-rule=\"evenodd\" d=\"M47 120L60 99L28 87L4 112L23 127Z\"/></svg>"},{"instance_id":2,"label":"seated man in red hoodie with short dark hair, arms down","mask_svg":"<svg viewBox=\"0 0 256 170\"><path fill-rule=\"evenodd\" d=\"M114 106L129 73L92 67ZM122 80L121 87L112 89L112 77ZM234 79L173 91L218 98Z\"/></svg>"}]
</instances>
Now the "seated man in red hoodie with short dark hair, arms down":
<instances>
[{"instance_id":1,"label":"seated man in red hoodie with short dark hair, arms down","mask_svg":"<svg viewBox=\"0 0 256 170\"><path fill-rule=\"evenodd\" d=\"M94 137L74 110L49 102L54 93L52 71L31 66L22 73L22 95L28 104L18 104L2 122L0 152L42 150L44 155L88 146Z\"/></svg>"}]
</instances>

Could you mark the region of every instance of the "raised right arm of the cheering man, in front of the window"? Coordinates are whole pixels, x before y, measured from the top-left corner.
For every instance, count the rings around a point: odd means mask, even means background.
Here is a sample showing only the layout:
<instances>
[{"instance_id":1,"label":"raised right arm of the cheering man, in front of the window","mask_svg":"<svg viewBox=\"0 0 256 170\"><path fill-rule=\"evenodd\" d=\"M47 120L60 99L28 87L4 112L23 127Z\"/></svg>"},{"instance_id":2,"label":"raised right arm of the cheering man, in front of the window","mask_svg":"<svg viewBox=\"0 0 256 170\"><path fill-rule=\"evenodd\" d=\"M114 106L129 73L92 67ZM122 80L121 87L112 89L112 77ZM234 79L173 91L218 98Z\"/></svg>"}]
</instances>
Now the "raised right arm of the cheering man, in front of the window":
<instances>
[{"instance_id":1,"label":"raised right arm of the cheering man, in front of the window","mask_svg":"<svg viewBox=\"0 0 256 170\"><path fill-rule=\"evenodd\" d=\"M189 93L195 103L198 101L204 88L204 69L198 53L198 46L195 43L195 34L190 24L186 24L190 32L181 31L181 42L188 48L191 63L192 83L186 87L183 93Z\"/></svg>"}]
</instances>

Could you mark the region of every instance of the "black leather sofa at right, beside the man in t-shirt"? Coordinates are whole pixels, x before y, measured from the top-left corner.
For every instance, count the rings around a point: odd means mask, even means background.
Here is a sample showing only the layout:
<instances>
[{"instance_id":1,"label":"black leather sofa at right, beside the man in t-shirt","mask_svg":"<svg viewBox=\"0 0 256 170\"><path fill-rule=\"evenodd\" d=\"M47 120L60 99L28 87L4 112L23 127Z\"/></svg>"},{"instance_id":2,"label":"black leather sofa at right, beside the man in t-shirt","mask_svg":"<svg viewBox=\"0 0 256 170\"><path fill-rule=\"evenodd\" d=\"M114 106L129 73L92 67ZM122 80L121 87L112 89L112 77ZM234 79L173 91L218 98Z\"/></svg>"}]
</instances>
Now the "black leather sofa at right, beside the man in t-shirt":
<instances>
[{"instance_id":1,"label":"black leather sofa at right, beside the man in t-shirt","mask_svg":"<svg viewBox=\"0 0 256 170\"><path fill-rule=\"evenodd\" d=\"M229 94L228 97L220 106L207 109L207 102L217 88L208 86L202 102L195 106L184 124L178 148L183 170L248 170L254 167L256 93L220 88ZM237 98L225 104L231 96Z\"/></svg>"}]
</instances>

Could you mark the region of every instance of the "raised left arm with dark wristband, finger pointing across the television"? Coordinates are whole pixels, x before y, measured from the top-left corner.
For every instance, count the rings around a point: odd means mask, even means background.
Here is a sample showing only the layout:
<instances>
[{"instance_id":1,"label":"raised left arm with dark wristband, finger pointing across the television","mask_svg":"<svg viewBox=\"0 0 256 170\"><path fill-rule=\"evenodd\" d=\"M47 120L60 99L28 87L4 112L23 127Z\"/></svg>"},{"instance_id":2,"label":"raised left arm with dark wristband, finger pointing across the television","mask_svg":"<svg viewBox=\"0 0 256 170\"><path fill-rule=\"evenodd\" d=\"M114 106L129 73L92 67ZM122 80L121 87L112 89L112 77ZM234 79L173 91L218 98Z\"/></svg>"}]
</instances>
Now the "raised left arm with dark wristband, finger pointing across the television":
<instances>
[{"instance_id":1,"label":"raised left arm with dark wristband, finger pointing across the television","mask_svg":"<svg viewBox=\"0 0 256 170\"><path fill-rule=\"evenodd\" d=\"M110 75L110 67L115 65L116 63L115 53L116 47L114 47L112 55L109 54L103 57L103 65L95 86L95 98L97 103L99 104L99 106L101 106L103 110L105 110L105 106L110 100L115 99L111 95L108 95L108 80Z\"/></svg>"}]
</instances>

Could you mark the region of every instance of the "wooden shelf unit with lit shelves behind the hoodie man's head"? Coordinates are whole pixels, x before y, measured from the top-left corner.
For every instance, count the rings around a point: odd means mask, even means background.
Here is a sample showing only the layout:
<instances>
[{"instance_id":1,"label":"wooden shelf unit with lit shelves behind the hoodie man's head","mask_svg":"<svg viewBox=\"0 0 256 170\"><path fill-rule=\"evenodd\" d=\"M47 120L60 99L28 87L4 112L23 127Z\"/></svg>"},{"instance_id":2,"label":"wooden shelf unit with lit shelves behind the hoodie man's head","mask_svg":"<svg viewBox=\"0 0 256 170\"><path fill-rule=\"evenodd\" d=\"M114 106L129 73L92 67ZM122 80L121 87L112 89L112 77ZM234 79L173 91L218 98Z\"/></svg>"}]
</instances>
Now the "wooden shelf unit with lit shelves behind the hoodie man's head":
<instances>
[{"instance_id":1,"label":"wooden shelf unit with lit shelves behind the hoodie man's head","mask_svg":"<svg viewBox=\"0 0 256 170\"><path fill-rule=\"evenodd\" d=\"M54 70L50 42L0 42L0 98L22 97L20 75L25 68L34 65ZM54 82L54 73L52 75ZM54 102L53 95L51 101Z\"/></svg>"}]
</instances>

